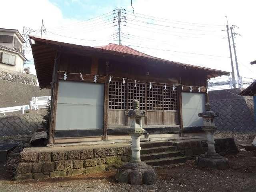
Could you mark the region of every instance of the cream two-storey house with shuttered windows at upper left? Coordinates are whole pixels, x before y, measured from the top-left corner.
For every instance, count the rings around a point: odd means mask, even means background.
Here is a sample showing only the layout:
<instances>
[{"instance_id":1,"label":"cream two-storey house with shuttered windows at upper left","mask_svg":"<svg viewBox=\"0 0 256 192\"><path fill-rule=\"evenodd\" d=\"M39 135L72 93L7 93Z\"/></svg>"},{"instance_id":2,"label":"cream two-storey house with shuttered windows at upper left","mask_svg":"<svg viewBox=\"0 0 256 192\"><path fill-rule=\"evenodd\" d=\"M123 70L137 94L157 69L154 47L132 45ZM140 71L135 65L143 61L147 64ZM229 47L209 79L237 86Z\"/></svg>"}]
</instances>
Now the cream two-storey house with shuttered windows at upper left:
<instances>
[{"instance_id":1,"label":"cream two-storey house with shuttered windows at upper left","mask_svg":"<svg viewBox=\"0 0 256 192\"><path fill-rule=\"evenodd\" d=\"M26 58L22 54L25 40L16 29L0 28L0 68L23 72Z\"/></svg>"}]
</instances>

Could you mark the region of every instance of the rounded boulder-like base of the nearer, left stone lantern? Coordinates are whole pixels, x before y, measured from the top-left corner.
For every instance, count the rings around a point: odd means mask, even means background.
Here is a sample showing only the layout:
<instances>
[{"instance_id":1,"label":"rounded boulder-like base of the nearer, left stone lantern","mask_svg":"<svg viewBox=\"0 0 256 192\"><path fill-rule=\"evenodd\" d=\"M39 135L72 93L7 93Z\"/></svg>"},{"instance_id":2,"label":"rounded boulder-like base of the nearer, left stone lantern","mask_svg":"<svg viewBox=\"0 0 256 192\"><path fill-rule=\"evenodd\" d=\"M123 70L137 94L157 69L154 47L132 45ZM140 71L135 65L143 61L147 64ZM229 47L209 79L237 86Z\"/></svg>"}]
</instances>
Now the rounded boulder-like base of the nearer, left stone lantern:
<instances>
[{"instance_id":1,"label":"rounded boulder-like base of the nearer, left stone lantern","mask_svg":"<svg viewBox=\"0 0 256 192\"><path fill-rule=\"evenodd\" d=\"M120 183L132 185L152 185L157 181L157 175L152 166L144 162L128 163L116 171L116 180Z\"/></svg>"}]
</instances>

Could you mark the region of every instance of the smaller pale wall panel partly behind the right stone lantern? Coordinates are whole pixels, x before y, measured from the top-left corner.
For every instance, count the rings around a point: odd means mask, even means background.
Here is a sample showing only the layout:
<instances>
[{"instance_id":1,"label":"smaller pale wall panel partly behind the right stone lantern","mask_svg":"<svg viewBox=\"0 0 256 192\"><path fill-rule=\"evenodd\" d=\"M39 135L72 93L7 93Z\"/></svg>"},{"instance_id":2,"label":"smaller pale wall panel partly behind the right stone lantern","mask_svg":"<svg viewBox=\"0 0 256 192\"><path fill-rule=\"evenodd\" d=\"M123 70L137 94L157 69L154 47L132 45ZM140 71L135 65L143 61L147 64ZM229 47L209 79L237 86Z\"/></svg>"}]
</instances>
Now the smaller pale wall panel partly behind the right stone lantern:
<instances>
[{"instance_id":1,"label":"smaller pale wall panel partly behind the right stone lantern","mask_svg":"<svg viewBox=\"0 0 256 192\"><path fill-rule=\"evenodd\" d=\"M183 127L203 126L203 118L198 113L204 111L205 94L182 92Z\"/></svg>"}]
</instances>

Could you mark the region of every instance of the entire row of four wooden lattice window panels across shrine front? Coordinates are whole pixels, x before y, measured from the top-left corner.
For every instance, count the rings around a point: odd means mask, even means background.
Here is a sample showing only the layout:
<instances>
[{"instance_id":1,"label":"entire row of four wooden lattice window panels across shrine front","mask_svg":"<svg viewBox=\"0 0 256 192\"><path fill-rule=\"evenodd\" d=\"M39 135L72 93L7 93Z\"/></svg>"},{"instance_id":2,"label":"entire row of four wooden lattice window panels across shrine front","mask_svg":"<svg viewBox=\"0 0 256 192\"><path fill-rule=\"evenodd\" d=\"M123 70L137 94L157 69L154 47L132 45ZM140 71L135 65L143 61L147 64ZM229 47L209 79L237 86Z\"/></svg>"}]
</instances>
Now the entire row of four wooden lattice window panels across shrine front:
<instances>
[{"instance_id":1,"label":"entire row of four wooden lattice window panels across shrine front","mask_svg":"<svg viewBox=\"0 0 256 192\"><path fill-rule=\"evenodd\" d=\"M126 94L127 93L127 94ZM147 96L147 101L146 101ZM137 99L140 102L141 110L178 110L178 98L176 88L172 90L172 86L152 85L146 87L145 83L127 82L123 85L122 82L111 81L109 84L109 109L132 109L132 102ZM128 102L128 104L126 103Z\"/></svg>"}]
</instances>

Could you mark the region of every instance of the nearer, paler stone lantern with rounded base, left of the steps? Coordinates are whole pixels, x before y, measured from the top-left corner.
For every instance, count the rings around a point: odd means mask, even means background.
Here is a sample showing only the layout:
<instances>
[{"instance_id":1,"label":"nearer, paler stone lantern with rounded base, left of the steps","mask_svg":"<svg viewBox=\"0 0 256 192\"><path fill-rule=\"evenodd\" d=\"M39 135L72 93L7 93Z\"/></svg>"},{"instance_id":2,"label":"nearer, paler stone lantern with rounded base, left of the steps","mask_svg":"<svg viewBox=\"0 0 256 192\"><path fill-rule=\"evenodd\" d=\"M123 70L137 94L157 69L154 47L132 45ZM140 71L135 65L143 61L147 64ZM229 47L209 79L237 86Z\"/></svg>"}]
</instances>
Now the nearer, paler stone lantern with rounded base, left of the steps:
<instances>
[{"instance_id":1,"label":"nearer, paler stone lantern with rounded base, left of the steps","mask_svg":"<svg viewBox=\"0 0 256 192\"><path fill-rule=\"evenodd\" d=\"M141 118L146 116L146 112L139 110L140 103L138 100L134 100L132 106L133 109L126 112L126 116L130 117L131 120L130 128L120 130L123 133L128 133L132 138L132 158L129 163L118 168L116 180L133 185L154 184L157 180L154 168L140 160L140 136L145 132L142 129Z\"/></svg>"}]
</instances>

